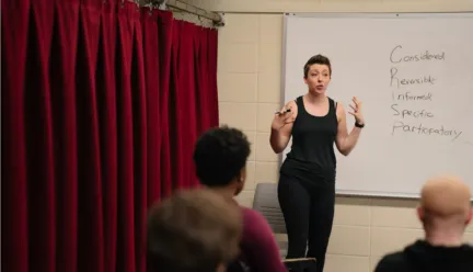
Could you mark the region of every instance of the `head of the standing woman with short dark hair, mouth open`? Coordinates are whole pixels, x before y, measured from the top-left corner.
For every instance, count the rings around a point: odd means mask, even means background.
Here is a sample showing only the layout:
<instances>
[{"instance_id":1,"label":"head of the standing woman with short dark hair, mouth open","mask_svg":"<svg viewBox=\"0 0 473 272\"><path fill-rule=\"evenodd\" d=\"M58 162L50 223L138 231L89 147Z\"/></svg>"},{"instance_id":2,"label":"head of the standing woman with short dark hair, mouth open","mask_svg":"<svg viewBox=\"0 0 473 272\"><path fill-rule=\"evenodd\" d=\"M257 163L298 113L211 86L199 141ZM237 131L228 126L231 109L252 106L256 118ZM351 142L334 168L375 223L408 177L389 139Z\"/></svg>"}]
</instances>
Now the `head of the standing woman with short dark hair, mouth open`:
<instances>
[{"instance_id":1,"label":"head of the standing woman with short dark hair, mouth open","mask_svg":"<svg viewBox=\"0 0 473 272\"><path fill-rule=\"evenodd\" d=\"M324 94L332 78L332 65L327 57L315 55L304 65L304 82L312 94Z\"/></svg>"}]
</instances>

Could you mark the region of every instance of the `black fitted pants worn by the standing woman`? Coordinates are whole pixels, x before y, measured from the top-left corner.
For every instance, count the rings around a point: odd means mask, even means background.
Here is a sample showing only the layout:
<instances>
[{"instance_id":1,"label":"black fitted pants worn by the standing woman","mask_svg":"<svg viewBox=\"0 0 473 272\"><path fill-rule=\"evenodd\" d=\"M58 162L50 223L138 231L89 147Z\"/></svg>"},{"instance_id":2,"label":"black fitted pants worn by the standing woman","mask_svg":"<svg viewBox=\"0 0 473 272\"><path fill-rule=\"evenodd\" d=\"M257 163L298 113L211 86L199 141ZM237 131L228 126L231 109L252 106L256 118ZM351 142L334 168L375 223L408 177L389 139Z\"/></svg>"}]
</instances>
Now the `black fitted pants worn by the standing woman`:
<instances>
[{"instance_id":1,"label":"black fitted pants worn by the standing woman","mask_svg":"<svg viewBox=\"0 0 473 272\"><path fill-rule=\"evenodd\" d=\"M315 258L318 272L322 272L332 233L335 183L320 186L318 181L304 182L281 174L278 199L288 233L286 258Z\"/></svg>"}]
</instances>

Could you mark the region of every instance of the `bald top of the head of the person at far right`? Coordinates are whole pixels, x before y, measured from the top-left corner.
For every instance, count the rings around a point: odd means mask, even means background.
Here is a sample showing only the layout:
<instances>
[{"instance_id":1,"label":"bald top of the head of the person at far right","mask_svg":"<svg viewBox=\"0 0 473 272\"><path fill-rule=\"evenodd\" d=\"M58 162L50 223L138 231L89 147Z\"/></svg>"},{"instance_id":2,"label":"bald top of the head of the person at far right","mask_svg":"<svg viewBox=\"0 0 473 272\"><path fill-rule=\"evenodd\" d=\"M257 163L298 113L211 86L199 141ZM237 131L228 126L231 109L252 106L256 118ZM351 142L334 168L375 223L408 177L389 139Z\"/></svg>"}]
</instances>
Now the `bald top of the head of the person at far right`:
<instances>
[{"instance_id":1,"label":"bald top of the head of the person at far right","mask_svg":"<svg viewBox=\"0 0 473 272\"><path fill-rule=\"evenodd\" d=\"M471 211L470 188L454 175L430 178L420 193L420 206L431 217L466 218Z\"/></svg>"}]
</instances>

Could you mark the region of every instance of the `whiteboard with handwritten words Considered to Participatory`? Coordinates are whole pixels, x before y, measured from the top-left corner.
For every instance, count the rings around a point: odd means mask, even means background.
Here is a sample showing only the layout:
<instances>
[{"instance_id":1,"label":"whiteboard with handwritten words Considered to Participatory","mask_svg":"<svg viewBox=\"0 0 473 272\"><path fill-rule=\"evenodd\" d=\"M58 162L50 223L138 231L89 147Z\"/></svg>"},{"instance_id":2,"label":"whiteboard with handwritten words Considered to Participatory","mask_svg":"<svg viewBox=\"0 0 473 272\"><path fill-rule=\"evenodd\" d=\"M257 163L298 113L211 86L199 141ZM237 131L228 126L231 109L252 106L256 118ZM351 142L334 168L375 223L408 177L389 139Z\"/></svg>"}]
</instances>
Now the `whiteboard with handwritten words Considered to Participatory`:
<instances>
[{"instance_id":1,"label":"whiteboard with handwritten words Considered to Participatory","mask_svg":"<svg viewBox=\"0 0 473 272\"><path fill-rule=\"evenodd\" d=\"M316 54L332 63L327 95L345 110L364 102L356 148L335 148L338 194L418 197L442 172L473 189L473 13L286 14L284 103L307 93L303 65Z\"/></svg>"}]
</instances>

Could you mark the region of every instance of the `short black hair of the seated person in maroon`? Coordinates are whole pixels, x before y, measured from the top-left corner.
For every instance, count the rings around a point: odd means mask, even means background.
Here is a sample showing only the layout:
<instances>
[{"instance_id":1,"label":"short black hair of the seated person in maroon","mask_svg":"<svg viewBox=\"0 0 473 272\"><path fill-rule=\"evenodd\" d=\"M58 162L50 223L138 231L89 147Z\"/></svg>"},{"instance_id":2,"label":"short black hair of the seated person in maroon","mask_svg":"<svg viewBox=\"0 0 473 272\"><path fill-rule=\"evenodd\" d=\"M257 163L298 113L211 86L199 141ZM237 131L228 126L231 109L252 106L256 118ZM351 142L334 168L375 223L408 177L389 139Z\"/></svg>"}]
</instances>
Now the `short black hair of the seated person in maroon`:
<instances>
[{"instance_id":1,"label":"short black hair of the seated person in maroon","mask_svg":"<svg viewBox=\"0 0 473 272\"><path fill-rule=\"evenodd\" d=\"M250 141L240 129L227 125L210 128L194 149L197 178L207 186L226 186L239 177L250 152Z\"/></svg>"}]
</instances>

